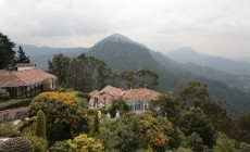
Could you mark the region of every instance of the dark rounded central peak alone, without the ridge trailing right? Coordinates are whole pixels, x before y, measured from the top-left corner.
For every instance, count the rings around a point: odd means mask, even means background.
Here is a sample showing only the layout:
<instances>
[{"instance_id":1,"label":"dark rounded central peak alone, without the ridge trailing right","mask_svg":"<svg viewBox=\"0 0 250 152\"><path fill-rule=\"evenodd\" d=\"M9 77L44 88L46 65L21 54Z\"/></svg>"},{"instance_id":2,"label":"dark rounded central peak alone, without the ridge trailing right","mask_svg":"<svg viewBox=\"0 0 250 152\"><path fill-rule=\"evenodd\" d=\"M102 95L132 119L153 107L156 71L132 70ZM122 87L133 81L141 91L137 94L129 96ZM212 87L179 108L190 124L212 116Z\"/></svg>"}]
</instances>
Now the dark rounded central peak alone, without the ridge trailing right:
<instances>
[{"instance_id":1,"label":"dark rounded central peak alone, without the ridge trailing right","mask_svg":"<svg viewBox=\"0 0 250 152\"><path fill-rule=\"evenodd\" d=\"M104 61L109 67L118 73L141 68L159 69L160 66L148 49L117 34L89 48L87 54Z\"/></svg>"}]
</instances>

